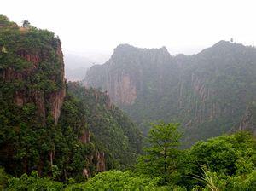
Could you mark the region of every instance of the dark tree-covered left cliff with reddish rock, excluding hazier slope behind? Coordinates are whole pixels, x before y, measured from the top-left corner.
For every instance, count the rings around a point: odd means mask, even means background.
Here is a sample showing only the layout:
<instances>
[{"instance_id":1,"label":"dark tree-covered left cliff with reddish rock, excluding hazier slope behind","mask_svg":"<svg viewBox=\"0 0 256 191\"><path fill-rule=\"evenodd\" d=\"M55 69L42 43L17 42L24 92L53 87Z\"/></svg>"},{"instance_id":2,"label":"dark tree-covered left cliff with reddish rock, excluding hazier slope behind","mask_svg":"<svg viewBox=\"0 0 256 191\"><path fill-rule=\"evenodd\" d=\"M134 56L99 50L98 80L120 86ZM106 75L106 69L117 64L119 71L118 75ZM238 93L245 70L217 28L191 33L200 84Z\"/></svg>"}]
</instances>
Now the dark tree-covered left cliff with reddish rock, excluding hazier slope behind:
<instances>
[{"instance_id":1,"label":"dark tree-covered left cliff with reddish rock, excluding hazier slope behind","mask_svg":"<svg viewBox=\"0 0 256 191\"><path fill-rule=\"evenodd\" d=\"M84 168L90 175L106 170L105 153L90 140L85 108L67 107L66 86L60 39L0 15L0 165L10 174L52 176L56 167L67 179L83 176ZM111 107L109 99L106 104Z\"/></svg>"}]
</instances>

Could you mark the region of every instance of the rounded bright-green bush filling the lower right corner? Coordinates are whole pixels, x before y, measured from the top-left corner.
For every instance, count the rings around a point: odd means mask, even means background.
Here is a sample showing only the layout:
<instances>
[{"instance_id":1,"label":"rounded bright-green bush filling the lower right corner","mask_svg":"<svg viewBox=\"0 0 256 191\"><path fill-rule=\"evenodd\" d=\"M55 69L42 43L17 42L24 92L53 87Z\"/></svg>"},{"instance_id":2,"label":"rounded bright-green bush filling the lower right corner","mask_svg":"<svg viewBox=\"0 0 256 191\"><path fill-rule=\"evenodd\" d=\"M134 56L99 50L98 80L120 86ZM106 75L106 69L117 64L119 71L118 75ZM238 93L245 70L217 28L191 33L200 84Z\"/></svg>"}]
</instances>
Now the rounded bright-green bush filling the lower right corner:
<instances>
[{"instance_id":1,"label":"rounded bright-green bush filling the lower right corner","mask_svg":"<svg viewBox=\"0 0 256 191\"><path fill-rule=\"evenodd\" d=\"M255 190L256 140L248 132L198 142L190 149L196 163L208 166L219 190ZM200 168L193 172L201 176Z\"/></svg>"}]
</instances>

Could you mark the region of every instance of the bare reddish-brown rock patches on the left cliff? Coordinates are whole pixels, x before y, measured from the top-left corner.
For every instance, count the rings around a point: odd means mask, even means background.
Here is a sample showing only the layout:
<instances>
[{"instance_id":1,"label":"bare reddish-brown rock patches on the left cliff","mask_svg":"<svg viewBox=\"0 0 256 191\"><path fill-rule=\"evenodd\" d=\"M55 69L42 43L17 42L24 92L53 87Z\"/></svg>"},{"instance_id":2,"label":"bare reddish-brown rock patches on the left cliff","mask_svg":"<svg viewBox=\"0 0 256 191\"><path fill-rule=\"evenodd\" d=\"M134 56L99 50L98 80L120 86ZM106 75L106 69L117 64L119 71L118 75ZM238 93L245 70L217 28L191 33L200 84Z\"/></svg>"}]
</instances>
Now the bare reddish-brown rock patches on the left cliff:
<instances>
[{"instance_id":1,"label":"bare reddish-brown rock patches on the left cliff","mask_svg":"<svg viewBox=\"0 0 256 191\"><path fill-rule=\"evenodd\" d=\"M3 70L2 77L4 82L12 82L14 80L20 80L26 82L27 78L31 75L34 75L41 61L45 60L45 57L48 56L46 53L32 54L27 53L26 51L19 51L17 53L31 63L30 67L22 71L15 71L14 68L8 67ZM45 124L45 118L47 115L46 104L49 104L49 113L52 115L55 124L57 124L58 119L61 114L61 106L66 96L66 85L64 78L64 62L63 55L61 51L61 43L59 43L58 48L56 49L56 55L59 57L61 63L58 68L58 78L61 78L61 89L53 92L44 92L44 90L16 90L14 94L14 102L16 105L22 107L26 103L33 102L38 108L38 119L40 119L42 124ZM56 79L57 77L53 76L51 79Z\"/></svg>"}]
</instances>

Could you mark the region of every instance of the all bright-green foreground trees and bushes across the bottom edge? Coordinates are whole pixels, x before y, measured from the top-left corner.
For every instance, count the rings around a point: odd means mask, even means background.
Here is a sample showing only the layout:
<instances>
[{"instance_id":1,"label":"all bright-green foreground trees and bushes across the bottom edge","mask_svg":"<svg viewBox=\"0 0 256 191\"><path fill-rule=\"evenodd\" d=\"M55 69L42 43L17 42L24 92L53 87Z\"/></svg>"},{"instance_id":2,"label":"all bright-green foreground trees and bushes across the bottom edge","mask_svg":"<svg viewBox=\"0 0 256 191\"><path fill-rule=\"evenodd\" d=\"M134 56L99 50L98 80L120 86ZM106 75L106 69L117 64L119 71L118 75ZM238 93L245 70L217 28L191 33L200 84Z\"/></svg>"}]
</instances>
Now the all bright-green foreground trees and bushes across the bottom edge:
<instances>
[{"instance_id":1,"label":"all bright-green foreground trees and bushes across the bottom edge","mask_svg":"<svg viewBox=\"0 0 256 191\"><path fill-rule=\"evenodd\" d=\"M151 142L147 151L158 151L155 143L165 143L165 135L160 132L177 133L177 124L155 124L150 131ZM154 135L154 136L153 136ZM156 136L157 135L157 136ZM178 135L178 134L177 134ZM153 137L158 137L153 139ZM171 138L169 138L171 137ZM169 141L177 142L177 137L168 136ZM168 145L170 146L170 145ZM168 155L161 163L164 152L149 152L144 162L148 168L142 170L139 160L136 171L105 171L91 177L87 182L62 184L48 177L39 178L35 173L30 177L9 178L0 171L0 186L7 190L211 190L211 191L253 191L256 190L256 140L250 133L237 132L233 135L218 136L197 142L188 150L167 147ZM155 154L155 155L154 155ZM145 157L144 156L144 157ZM154 158L153 158L154 157ZM170 158L170 159L169 159ZM140 159L147 159L141 157ZM154 160L153 160L154 159ZM155 161L155 164L154 164ZM153 173L152 166L157 173ZM166 168L166 172L163 171ZM172 168L169 168L172 167ZM162 171L163 173L160 173ZM7 180L9 180L7 182Z\"/></svg>"}]
</instances>

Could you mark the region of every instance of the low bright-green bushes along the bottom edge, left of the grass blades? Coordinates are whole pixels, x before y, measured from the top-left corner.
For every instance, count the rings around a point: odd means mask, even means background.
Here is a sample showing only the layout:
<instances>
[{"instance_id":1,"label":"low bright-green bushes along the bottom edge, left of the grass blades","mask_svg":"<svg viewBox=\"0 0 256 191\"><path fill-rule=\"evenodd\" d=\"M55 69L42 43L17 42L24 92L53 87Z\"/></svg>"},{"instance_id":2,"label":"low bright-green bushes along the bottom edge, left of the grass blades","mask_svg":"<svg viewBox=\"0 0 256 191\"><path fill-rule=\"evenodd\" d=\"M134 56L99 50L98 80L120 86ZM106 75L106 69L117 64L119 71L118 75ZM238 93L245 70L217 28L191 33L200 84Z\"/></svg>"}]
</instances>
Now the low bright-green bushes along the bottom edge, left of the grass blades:
<instances>
[{"instance_id":1,"label":"low bright-green bushes along the bottom edge, left of the grass blades","mask_svg":"<svg viewBox=\"0 0 256 191\"><path fill-rule=\"evenodd\" d=\"M1 177L0 173L0 177ZM144 175L135 174L132 171L105 171L90 178L88 182L70 183L66 185L61 182L55 182L49 177L38 177L36 171L31 176L26 174L20 178L9 178L9 191L22 190L65 190L65 191L85 191L85 190L185 190L180 187L158 186L160 178L154 179L145 177ZM72 182L72 181L70 181ZM6 186L7 183L2 184ZM1 186L1 185L0 185Z\"/></svg>"}]
</instances>

